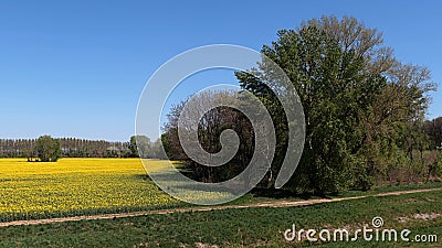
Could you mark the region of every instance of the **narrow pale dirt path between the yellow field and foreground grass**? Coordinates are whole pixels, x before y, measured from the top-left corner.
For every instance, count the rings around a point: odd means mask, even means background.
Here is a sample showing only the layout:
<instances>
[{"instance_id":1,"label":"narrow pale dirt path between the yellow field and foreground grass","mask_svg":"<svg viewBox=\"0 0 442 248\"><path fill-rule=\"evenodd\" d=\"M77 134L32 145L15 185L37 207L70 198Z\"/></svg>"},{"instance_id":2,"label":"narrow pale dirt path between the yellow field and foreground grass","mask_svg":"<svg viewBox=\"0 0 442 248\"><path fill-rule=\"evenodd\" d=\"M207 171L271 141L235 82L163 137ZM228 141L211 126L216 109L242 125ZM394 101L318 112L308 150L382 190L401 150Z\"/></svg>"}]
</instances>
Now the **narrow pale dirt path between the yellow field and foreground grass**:
<instances>
[{"instance_id":1,"label":"narrow pale dirt path between the yellow field and foreground grass","mask_svg":"<svg viewBox=\"0 0 442 248\"><path fill-rule=\"evenodd\" d=\"M348 200L360 200L360 198L367 198L370 196L381 197L381 196L389 196L389 195L404 195L404 194L432 192L432 191L442 191L442 187L425 188L425 190L411 190L411 191L396 191L396 192L379 193L379 194L375 194L375 195L361 195L361 196L343 197L343 198L320 198L320 200L306 200L306 201L286 201L286 200L284 200L284 201L269 201L269 202L240 204L240 205L200 206L200 207L158 209L158 211L134 212L134 213L123 213L123 214L104 214L104 215L75 216L75 217L64 217L64 218L15 220L15 222L9 222L9 223L0 223L0 227L21 226L21 225L42 225L42 224L78 222L78 220L90 220L90 219L112 219L112 218L136 217L136 216L143 216L143 215L151 215L151 214L171 214L171 213L186 213L186 212L207 212L207 211L218 211L218 209L236 209L236 208L248 208L248 207L306 206L306 205L313 205L313 204L318 204L318 203L332 203L332 202L341 202L341 201L348 201Z\"/></svg>"}]
</instances>

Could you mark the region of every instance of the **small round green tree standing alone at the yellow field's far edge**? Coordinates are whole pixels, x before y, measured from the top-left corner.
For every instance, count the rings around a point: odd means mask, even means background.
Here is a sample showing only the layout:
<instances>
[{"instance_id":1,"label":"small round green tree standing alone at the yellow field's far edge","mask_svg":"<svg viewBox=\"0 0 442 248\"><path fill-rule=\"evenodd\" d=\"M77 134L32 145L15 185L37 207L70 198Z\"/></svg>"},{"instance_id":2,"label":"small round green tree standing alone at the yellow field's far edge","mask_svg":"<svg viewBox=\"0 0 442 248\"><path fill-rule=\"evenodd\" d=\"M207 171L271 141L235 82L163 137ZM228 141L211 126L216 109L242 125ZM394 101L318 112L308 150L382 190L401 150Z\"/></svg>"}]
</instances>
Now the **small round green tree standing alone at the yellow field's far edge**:
<instances>
[{"instance_id":1,"label":"small round green tree standing alone at the yellow field's far edge","mask_svg":"<svg viewBox=\"0 0 442 248\"><path fill-rule=\"evenodd\" d=\"M36 154L41 162L56 162L62 157L60 142L50 136L42 136L36 140Z\"/></svg>"}]
</instances>

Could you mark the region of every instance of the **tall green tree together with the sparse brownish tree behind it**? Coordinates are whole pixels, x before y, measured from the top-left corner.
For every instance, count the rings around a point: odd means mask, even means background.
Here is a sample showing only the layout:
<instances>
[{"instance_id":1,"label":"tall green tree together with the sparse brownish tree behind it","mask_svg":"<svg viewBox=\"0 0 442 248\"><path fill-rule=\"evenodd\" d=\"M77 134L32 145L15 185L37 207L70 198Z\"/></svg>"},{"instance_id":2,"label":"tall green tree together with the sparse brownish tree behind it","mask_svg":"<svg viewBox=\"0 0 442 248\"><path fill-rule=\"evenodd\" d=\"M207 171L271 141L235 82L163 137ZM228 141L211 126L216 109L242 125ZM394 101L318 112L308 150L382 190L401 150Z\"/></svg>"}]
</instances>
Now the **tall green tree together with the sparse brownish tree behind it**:
<instances>
[{"instance_id":1,"label":"tall green tree together with the sparse brownish tree behind it","mask_svg":"<svg viewBox=\"0 0 442 248\"><path fill-rule=\"evenodd\" d=\"M354 18L324 17L296 30L282 30L262 53L291 78L306 118L306 142L293 188L317 194L341 187L369 188L380 166L379 145L408 121L422 119L433 89L424 67L402 64L383 46L382 35ZM259 71L271 75L261 64ZM278 145L287 123L269 88L249 73L241 86L263 99L276 122ZM382 150L383 149L383 150ZM272 170L281 164L278 149Z\"/></svg>"}]
</instances>

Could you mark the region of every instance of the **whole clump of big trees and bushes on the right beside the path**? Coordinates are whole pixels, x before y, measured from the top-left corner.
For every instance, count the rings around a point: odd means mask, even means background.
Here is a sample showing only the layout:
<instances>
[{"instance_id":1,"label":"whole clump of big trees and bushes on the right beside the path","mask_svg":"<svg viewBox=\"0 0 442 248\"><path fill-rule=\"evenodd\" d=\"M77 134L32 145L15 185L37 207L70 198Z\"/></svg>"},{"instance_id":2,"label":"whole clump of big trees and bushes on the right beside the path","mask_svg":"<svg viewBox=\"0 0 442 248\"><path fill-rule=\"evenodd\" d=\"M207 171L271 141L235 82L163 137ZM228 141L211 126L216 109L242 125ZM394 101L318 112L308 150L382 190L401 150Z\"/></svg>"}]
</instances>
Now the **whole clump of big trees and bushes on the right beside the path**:
<instances>
[{"instance_id":1,"label":"whole clump of big trees and bushes on the right beside the path","mask_svg":"<svg viewBox=\"0 0 442 248\"><path fill-rule=\"evenodd\" d=\"M436 88L427 67L401 63L385 45L380 32L350 17L313 19L277 34L278 40L264 45L262 53L291 78L306 121L303 155L285 185L287 190L324 195L343 188L369 190L382 183L440 180L442 157L436 147L442 145L442 118L424 119L429 93ZM265 63L256 69L261 78L272 77L272 68ZM273 187L287 150L285 112L257 77L248 72L235 75L241 87L259 97L272 116L276 154L261 186ZM199 100L203 105L219 94ZM175 106L168 115L161 137L168 155L187 161L192 176L200 181L235 176L253 154L254 130L248 119L225 107L203 116L198 134L208 152L219 151L219 134L227 128L234 129L241 139L231 163L203 166L180 147L177 120L185 104Z\"/></svg>"}]
</instances>

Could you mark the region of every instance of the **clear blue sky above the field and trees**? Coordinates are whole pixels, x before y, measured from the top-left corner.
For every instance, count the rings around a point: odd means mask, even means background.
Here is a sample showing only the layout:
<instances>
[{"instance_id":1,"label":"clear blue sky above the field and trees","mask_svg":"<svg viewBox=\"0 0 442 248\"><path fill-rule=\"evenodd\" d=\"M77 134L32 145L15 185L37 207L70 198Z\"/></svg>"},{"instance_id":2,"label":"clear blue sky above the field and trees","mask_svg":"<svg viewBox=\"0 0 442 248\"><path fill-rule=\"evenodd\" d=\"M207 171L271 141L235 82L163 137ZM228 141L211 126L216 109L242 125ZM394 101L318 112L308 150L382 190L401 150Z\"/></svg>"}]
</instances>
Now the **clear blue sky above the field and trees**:
<instances>
[{"instance_id":1,"label":"clear blue sky above the field and trees","mask_svg":"<svg viewBox=\"0 0 442 248\"><path fill-rule=\"evenodd\" d=\"M442 84L441 10L438 0L0 1L0 138L126 141L147 79L172 56L215 43L260 50L324 14L377 28ZM442 116L439 88L429 118Z\"/></svg>"}]
</instances>

